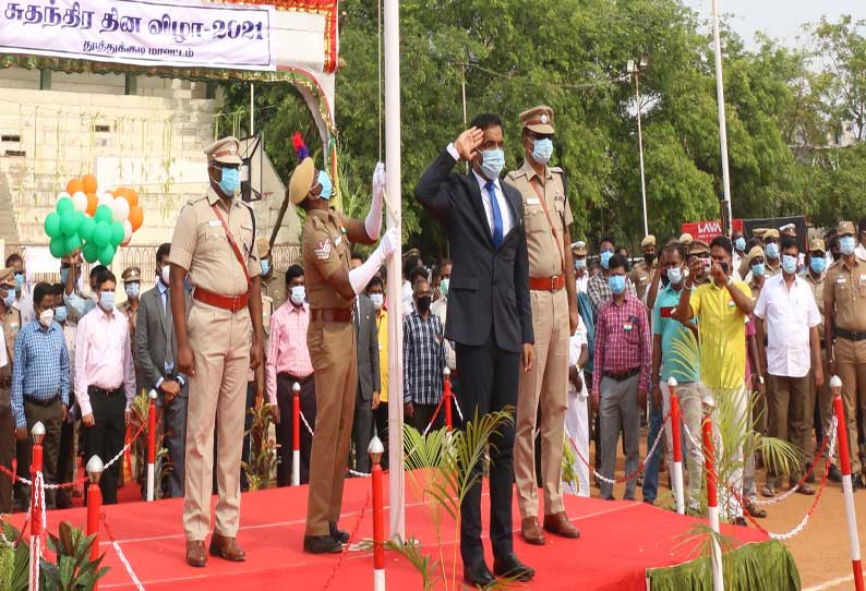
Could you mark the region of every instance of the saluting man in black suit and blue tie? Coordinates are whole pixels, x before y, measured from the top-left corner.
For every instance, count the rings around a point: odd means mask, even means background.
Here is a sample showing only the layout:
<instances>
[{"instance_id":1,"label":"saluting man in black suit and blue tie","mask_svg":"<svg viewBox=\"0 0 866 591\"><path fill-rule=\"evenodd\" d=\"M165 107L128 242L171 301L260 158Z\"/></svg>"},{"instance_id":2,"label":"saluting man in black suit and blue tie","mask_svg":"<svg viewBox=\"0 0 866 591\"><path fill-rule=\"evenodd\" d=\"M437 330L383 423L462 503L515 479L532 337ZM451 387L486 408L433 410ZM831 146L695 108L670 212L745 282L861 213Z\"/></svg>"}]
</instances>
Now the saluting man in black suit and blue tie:
<instances>
[{"instance_id":1,"label":"saluting man in black suit and blue tie","mask_svg":"<svg viewBox=\"0 0 866 591\"><path fill-rule=\"evenodd\" d=\"M517 403L520 366L532 366L534 341L529 304L524 205L520 194L500 183L504 162L502 121L480 114L428 168L416 198L436 218L454 257L445 338L457 345L459 402L465 417L481 417ZM453 172L472 162L467 174ZM490 447L490 540L493 571L520 581L534 570L517 559L512 543L514 424L501 427ZM479 482L465 496L460 514L460 556L467 582L495 582L481 545Z\"/></svg>"}]
</instances>

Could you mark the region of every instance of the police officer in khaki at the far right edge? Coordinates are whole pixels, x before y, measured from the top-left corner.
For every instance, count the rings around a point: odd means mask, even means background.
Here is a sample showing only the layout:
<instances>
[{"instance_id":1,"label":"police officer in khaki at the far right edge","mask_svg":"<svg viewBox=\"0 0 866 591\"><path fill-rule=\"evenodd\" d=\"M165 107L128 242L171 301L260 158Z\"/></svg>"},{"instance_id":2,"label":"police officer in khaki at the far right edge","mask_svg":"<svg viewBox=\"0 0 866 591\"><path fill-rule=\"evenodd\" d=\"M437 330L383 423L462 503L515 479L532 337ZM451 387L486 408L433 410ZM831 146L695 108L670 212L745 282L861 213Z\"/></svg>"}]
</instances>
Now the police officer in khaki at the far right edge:
<instances>
[{"instance_id":1,"label":"police officer in khaki at the far right edge","mask_svg":"<svg viewBox=\"0 0 866 591\"><path fill-rule=\"evenodd\" d=\"M849 444L857 449L857 408L866 412L866 262L854 252L854 224L840 221L835 231L842 258L830 266L823 280L823 335L830 373L842 379ZM861 469L859 455L852 453L855 489L864 487Z\"/></svg>"}]
</instances>

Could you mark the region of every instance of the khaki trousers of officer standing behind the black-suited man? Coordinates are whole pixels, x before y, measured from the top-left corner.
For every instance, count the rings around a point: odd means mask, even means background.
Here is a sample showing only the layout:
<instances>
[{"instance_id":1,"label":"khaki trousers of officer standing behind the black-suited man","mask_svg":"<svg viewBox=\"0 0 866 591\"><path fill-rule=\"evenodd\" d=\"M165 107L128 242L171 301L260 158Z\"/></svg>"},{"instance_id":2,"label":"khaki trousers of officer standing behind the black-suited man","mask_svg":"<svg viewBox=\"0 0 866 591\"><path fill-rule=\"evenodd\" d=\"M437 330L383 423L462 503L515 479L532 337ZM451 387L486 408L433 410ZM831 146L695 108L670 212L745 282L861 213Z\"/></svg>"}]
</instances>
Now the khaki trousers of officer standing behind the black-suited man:
<instances>
[{"instance_id":1,"label":"khaki trousers of officer standing behind the black-suited man","mask_svg":"<svg viewBox=\"0 0 866 591\"><path fill-rule=\"evenodd\" d=\"M568 296L565 289L530 291L536 362L520 372L514 473L521 518L538 516L536 423L541 405L541 484L544 514L563 510L563 441L568 407Z\"/></svg>"}]
</instances>

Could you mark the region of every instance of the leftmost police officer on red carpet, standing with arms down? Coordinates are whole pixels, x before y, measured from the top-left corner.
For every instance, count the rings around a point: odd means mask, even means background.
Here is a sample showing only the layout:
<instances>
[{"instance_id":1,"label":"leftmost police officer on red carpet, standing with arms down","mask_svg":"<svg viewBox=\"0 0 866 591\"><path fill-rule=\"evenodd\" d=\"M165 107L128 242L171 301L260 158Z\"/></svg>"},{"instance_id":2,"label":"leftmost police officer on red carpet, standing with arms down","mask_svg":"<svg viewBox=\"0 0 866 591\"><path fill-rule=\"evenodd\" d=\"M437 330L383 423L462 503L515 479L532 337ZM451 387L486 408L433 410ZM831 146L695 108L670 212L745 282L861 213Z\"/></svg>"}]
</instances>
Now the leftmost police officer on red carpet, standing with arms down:
<instances>
[{"instance_id":1,"label":"leftmost police officer on red carpet, standing with arms down","mask_svg":"<svg viewBox=\"0 0 866 591\"><path fill-rule=\"evenodd\" d=\"M219 499L209 553L245 559L234 536L246 374L262 362L264 337L255 218L250 206L236 198L239 152L234 137L205 149L211 186L181 209L169 255L177 365L190 378L183 529L187 562L199 567L207 562L204 539L211 530L215 420ZM188 273L193 285L189 315L183 290Z\"/></svg>"}]
</instances>

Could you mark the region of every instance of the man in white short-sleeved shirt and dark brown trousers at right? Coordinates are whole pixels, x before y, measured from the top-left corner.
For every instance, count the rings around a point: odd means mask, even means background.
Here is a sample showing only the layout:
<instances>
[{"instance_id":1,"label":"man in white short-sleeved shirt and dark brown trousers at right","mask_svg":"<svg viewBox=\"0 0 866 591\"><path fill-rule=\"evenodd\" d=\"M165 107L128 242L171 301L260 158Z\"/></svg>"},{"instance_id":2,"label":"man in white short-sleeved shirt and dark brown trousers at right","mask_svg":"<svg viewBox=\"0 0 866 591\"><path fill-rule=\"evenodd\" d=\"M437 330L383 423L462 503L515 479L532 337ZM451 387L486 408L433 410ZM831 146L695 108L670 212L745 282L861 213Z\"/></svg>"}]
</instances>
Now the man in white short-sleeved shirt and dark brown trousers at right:
<instances>
[{"instance_id":1,"label":"man in white short-sleeved shirt and dark brown trousers at right","mask_svg":"<svg viewBox=\"0 0 866 591\"><path fill-rule=\"evenodd\" d=\"M794 238L784 237L781 244L782 273L765 284L755 315L765 322L768 335L767 369L773 387L769 397L770 435L787 439L803 453L808 448L811 424L806 408L811 369L817 387L823 384L818 325L821 316L811 288L797 276L799 248ZM802 472L790 474L791 485ZM775 478L774 478L775 477ZM768 472L765 496L775 494L779 478ZM798 493L811 495L815 490L802 485Z\"/></svg>"}]
</instances>

